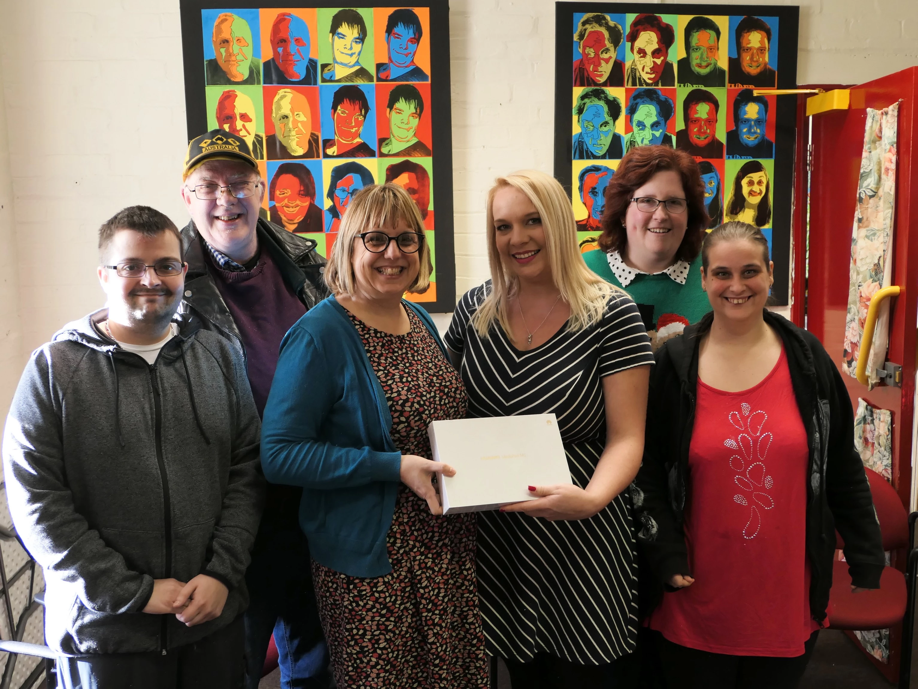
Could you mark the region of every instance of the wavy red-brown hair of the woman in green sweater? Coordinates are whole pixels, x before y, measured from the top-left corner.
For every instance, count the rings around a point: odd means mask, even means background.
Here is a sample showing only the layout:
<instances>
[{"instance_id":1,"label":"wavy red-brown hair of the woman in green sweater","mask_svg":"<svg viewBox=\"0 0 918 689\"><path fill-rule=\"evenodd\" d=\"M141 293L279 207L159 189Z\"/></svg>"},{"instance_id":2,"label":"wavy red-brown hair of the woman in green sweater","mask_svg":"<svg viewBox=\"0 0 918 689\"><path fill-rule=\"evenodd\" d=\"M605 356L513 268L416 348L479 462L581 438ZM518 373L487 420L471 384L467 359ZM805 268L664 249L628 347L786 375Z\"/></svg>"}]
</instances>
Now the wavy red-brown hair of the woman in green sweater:
<instances>
[{"instance_id":1,"label":"wavy red-brown hair of the woman in green sweater","mask_svg":"<svg viewBox=\"0 0 918 689\"><path fill-rule=\"evenodd\" d=\"M606 209L602 214L602 236L599 248L604 252L623 254L628 245L624 228L625 213L631 205L634 190L644 186L659 172L673 170L682 179L689 208L689 224L685 237L676 251L678 261L691 263L698 256L704 231L708 227L708 214L704 209L704 185L698 163L685 151L668 146L638 146L625 153L618 169L606 187Z\"/></svg>"}]
</instances>

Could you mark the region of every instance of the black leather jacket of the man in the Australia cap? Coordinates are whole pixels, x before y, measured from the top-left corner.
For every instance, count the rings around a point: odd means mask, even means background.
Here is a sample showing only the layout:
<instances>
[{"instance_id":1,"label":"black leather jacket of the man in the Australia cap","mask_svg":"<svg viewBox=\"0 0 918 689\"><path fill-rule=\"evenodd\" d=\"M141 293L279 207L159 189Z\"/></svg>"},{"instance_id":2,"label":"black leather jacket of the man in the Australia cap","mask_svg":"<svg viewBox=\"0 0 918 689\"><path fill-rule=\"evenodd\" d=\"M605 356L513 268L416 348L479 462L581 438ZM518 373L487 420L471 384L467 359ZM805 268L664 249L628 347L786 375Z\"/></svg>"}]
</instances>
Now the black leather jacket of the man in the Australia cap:
<instances>
[{"instance_id":1,"label":"black leather jacket of the man in the Australia cap","mask_svg":"<svg viewBox=\"0 0 918 689\"><path fill-rule=\"evenodd\" d=\"M307 309L329 296L329 288L322 277L327 262L316 253L315 241L286 232L263 218L258 219L255 232L258 232L259 248L271 252L285 283L293 288ZM182 248L188 264L182 308L191 307L204 321L205 329L229 337L244 355L245 347L239 329L208 272L208 262L204 257L206 249L193 220L182 230Z\"/></svg>"}]
</instances>

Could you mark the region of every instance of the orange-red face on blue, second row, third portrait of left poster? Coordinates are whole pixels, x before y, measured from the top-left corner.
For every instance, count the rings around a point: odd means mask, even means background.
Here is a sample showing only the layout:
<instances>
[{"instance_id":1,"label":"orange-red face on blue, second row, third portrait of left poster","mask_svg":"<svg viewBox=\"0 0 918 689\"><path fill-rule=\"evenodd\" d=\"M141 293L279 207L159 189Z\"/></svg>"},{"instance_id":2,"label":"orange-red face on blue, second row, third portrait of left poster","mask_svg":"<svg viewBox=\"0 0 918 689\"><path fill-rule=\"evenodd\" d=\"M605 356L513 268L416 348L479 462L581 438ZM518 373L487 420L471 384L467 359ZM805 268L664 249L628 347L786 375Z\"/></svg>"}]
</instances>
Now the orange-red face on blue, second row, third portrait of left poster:
<instances>
[{"instance_id":1,"label":"orange-red face on blue, second row, third portrait of left poster","mask_svg":"<svg viewBox=\"0 0 918 689\"><path fill-rule=\"evenodd\" d=\"M376 157L375 97L373 85L319 86L323 158Z\"/></svg>"}]
</instances>

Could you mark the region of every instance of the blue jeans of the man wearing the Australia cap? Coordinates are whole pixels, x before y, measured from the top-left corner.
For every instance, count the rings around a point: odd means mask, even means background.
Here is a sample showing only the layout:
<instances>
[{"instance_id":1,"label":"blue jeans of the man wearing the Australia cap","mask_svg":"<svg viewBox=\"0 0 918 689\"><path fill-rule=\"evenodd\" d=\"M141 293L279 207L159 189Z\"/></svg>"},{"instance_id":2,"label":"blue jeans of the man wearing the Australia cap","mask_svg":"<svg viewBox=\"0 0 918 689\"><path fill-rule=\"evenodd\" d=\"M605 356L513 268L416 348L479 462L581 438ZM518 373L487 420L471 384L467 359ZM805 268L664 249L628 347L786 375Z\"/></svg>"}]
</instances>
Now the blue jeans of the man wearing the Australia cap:
<instances>
[{"instance_id":1,"label":"blue jeans of the man wearing the Australia cap","mask_svg":"<svg viewBox=\"0 0 918 689\"><path fill-rule=\"evenodd\" d=\"M333 687L308 544L299 528L260 532L245 580L246 689L258 689L272 634L283 689Z\"/></svg>"}]
</instances>

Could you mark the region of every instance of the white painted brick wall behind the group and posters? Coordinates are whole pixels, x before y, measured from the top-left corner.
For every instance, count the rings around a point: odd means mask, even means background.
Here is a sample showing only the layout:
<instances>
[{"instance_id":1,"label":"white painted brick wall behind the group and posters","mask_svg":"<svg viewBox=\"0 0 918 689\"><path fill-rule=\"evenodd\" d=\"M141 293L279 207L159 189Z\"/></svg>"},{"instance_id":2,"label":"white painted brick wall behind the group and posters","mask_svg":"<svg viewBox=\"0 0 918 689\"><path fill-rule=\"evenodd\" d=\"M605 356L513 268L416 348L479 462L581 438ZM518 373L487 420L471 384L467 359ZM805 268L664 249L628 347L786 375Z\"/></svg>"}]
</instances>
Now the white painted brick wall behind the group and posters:
<instances>
[{"instance_id":1,"label":"white painted brick wall behind the group and posters","mask_svg":"<svg viewBox=\"0 0 918 689\"><path fill-rule=\"evenodd\" d=\"M914 0L800 5L800 83L856 84L918 63ZM187 140L177 0L0 0L0 26L5 412L28 353L102 305L102 221L144 203L184 224ZM494 177L552 172L554 2L453 0L451 47L461 294L487 277L484 199Z\"/></svg>"}]
</instances>

